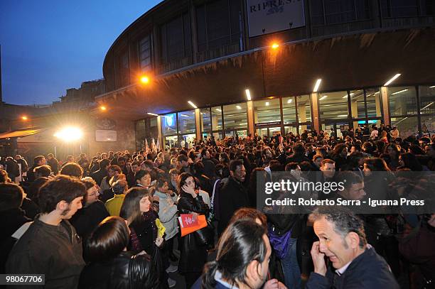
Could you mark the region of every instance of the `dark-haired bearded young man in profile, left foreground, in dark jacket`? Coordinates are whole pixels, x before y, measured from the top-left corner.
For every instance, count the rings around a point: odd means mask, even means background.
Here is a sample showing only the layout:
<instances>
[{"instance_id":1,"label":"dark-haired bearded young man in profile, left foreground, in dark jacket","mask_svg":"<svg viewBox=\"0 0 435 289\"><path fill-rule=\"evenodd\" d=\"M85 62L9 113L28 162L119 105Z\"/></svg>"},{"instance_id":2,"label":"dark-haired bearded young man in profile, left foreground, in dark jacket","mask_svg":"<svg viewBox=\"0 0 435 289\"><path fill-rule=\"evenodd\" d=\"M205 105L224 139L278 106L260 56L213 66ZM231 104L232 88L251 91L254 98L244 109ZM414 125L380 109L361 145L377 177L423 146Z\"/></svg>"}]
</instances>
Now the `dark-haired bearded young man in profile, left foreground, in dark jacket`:
<instances>
[{"instance_id":1,"label":"dark-haired bearded young man in profile, left foreground, in dark jacket","mask_svg":"<svg viewBox=\"0 0 435 289\"><path fill-rule=\"evenodd\" d=\"M18 239L6 273L45 274L45 288L77 288L85 261L82 241L68 219L81 209L85 185L58 175L39 190L41 214Z\"/></svg>"}]
</instances>

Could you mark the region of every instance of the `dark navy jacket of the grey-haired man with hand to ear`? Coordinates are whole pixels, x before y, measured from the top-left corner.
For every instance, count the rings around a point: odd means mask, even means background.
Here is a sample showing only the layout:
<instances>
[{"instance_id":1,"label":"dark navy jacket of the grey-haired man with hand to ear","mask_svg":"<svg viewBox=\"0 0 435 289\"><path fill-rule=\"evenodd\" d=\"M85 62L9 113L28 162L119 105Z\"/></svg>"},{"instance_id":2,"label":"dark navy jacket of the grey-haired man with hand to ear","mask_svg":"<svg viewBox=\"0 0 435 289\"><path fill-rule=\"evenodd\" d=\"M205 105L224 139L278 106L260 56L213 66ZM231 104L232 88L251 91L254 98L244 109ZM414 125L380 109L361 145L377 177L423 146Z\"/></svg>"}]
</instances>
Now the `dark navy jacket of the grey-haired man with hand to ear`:
<instances>
[{"instance_id":1,"label":"dark navy jacket of the grey-haired man with hand to ear","mask_svg":"<svg viewBox=\"0 0 435 289\"><path fill-rule=\"evenodd\" d=\"M399 289L390 268L384 258L375 249L365 249L357 258L353 259L346 271L338 276L335 271L328 269L326 276L312 272L306 289Z\"/></svg>"}]
</instances>

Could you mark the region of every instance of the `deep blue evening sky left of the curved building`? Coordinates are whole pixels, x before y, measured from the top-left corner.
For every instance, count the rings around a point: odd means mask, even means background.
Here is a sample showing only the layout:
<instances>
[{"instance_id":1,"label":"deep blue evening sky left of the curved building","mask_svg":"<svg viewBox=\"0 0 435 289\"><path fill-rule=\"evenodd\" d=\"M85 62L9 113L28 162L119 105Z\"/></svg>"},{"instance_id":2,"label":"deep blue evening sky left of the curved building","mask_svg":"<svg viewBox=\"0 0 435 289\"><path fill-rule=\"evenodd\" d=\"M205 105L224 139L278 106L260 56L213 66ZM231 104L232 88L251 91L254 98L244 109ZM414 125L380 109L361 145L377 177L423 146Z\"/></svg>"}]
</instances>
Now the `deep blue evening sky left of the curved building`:
<instances>
[{"instance_id":1,"label":"deep blue evening sky left of the curved building","mask_svg":"<svg viewBox=\"0 0 435 289\"><path fill-rule=\"evenodd\" d=\"M3 101L49 104L102 78L104 55L161 0L0 0Z\"/></svg>"}]
</instances>

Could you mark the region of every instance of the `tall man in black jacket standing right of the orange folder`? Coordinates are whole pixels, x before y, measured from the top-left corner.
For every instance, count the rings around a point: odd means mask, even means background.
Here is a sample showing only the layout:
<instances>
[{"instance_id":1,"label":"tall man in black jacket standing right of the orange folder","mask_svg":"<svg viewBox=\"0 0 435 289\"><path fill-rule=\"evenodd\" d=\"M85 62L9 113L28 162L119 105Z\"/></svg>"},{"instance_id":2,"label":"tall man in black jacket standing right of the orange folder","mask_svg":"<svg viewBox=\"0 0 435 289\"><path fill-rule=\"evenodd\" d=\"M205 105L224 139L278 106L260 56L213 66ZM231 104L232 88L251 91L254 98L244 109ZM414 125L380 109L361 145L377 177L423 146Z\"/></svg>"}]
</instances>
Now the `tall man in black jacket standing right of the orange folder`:
<instances>
[{"instance_id":1,"label":"tall man in black jacket standing right of the orange folder","mask_svg":"<svg viewBox=\"0 0 435 289\"><path fill-rule=\"evenodd\" d=\"M218 233L222 234L230 222L232 214L237 209L249 207L247 189L243 185L246 170L243 160L232 160L230 163L230 178L219 192L220 219Z\"/></svg>"}]
</instances>

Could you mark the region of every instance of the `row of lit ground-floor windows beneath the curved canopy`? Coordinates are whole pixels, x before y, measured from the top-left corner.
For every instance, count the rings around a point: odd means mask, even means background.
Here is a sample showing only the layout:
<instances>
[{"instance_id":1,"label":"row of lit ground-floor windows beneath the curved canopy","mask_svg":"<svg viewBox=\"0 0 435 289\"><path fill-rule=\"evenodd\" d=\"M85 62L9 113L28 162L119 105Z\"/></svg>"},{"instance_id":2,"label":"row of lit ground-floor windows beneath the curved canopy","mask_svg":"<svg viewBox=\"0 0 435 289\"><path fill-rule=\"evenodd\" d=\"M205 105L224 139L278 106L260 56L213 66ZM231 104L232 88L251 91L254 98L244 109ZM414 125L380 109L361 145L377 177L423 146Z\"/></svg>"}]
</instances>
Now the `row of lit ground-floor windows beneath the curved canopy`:
<instances>
[{"instance_id":1,"label":"row of lit ground-floor windows beneath the curved canopy","mask_svg":"<svg viewBox=\"0 0 435 289\"><path fill-rule=\"evenodd\" d=\"M402 137L421 131L435 133L435 86L388 87L388 103L391 124L397 126ZM311 129L311 97L275 97L253 103L255 131L259 136L281 133L301 133ZM354 89L347 92L326 92L318 94L318 108L321 129L333 130L338 136L349 128L356 129L364 124L377 124L382 119L382 99L379 88ZM225 136L247 136L247 103L229 104L199 109L200 131L204 138ZM151 118L156 119L156 118ZM150 119L139 121L142 123ZM139 144L146 138L156 138L157 128L151 133L137 131L144 129L136 124L136 139ZM191 143L196 137L195 111L181 111L161 116L161 128L166 145Z\"/></svg>"}]
</instances>

